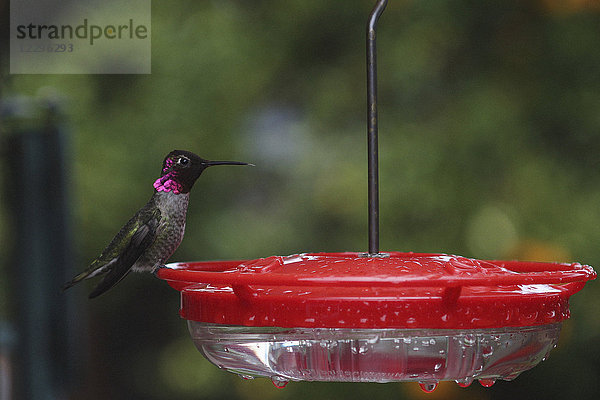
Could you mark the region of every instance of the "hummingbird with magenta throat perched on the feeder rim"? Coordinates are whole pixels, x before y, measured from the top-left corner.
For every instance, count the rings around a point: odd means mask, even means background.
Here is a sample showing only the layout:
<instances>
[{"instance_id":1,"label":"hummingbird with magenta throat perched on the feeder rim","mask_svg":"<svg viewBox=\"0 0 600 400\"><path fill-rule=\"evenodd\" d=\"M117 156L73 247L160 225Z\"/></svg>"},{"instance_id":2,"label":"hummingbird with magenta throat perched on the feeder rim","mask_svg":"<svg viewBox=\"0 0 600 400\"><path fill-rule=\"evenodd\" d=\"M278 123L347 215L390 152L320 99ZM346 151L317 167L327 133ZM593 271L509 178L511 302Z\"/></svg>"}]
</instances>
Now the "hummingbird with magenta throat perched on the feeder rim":
<instances>
[{"instance_id":1,"label":"hummingbird with magenta throat perched on the feeder rim","mask_svg":"<svg viewBox=\"0 0 600 400\"><path fill-rule=\"evenodd\" d=\"M119 283L131 271L155 272L175 252L185 232L190 190L202 172L214 165L252 165L239 161L209 161L185 150L174 150L163 161L152 197L116 234L90 266L67 282L104 275L90 293L92 299Z\"/></svg>"}]
</instances>

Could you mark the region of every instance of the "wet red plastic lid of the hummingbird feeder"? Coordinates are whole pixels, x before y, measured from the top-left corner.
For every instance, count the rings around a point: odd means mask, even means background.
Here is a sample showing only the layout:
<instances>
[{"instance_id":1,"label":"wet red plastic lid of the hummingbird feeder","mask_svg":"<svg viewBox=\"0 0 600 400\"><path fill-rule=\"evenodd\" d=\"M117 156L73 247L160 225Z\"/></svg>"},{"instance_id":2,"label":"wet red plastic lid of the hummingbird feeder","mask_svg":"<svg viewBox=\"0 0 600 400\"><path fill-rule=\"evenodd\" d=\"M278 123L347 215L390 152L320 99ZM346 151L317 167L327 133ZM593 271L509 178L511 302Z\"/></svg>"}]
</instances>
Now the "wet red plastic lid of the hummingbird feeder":
<instances>
[{"instance_id":1,"label":"wet red plastic lid of the hummingbird feeder","mask_svg":"<svg viewBox=\"0 0 600 400\"><path fill-rule=\"evenodd\" d=\"M578 263L348 252L174 263L158 277L181 292L181 316L199 322L477 329L560 322L596 273Z\"/></svg>"}]
</instances>

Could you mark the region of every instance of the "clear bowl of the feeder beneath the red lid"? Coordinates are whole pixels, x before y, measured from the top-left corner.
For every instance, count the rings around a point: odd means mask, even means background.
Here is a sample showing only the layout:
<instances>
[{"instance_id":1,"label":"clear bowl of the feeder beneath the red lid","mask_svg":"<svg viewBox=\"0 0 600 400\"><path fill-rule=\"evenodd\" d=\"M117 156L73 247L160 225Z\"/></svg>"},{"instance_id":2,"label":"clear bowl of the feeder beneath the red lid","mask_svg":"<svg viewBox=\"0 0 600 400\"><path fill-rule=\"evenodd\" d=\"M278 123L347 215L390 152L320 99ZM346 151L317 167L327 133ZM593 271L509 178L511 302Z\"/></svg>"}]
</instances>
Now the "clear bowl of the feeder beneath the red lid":
<instances>
[{"instance_id":1,"label":"clear bowl of the feeder beneath the red lid","mask_svg":"<svg viewBox=\"0 0 600 400\"><path fill-rule=\"evenodd\" d=\"M435 385L512 380L544 360L561 323L498 329L257 328L188 321L198 350L242 377ZM431 389L432 390L432 389Z\"/></svg>"}]
</instances>

